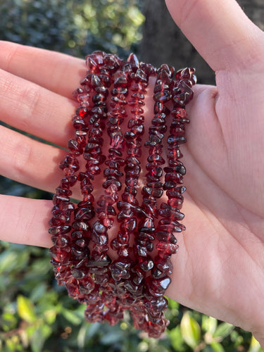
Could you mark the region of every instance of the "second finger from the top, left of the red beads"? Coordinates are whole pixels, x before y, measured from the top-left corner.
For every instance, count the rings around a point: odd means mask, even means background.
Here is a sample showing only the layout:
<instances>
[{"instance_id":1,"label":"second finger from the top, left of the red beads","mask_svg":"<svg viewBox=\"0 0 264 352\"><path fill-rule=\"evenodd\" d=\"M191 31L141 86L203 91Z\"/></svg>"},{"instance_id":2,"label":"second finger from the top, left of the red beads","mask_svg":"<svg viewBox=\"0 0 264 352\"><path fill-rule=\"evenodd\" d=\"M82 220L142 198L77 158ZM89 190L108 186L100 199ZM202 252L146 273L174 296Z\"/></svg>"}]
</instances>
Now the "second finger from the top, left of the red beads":
<instances>
[{"instance_id":1,"label":"second finger from the top, left of the red beads","mask_svg":"<svg viewBox=\"0 0 264 352\"><path fill-rule=\"evenodd\" d=\"M67 146L76 103L0 70L0 120L59 146Z\"/></svg>"}]
</instances>

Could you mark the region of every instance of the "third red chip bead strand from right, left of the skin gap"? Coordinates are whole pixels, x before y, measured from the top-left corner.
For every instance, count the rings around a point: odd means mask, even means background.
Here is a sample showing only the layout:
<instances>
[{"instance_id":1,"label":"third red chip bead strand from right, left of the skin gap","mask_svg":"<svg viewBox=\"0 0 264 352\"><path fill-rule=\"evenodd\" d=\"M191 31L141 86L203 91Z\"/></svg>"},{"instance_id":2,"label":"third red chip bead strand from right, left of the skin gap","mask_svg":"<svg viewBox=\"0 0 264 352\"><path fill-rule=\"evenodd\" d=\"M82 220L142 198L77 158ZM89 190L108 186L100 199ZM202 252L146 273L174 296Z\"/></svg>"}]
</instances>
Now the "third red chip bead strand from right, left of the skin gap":
<instances>
[{"instance_id":1,"label":"third red chip bead strand from right, left of the skin gap","mask_svg":"<svg viewBox=\"0 0 264 352\"><path fill-rule=\"evenodd\" d=\"M151 65L140 63L134 54L127 59L123 68L131 80L131 96L128 101L131 118L127 123L129 130L125 133L127 157L125 158L125 189L122 192L122 201L119 201L118 217L120 230L118 236L111 241L111 248L118 251L118 259L111 264L112 276L127 289L132 297L141 297L143 289L143 274L134 260L133 247L130 237L137 232L137 215L142 213L137 200L139 188L140 157L142 156L142 136L144 134L144 94L149 84L149 76L155 75L156 70ZM136 248L136 244L134 245ZM136 304L136 303L133 303Z\"/></svg>"}]
</instances>

